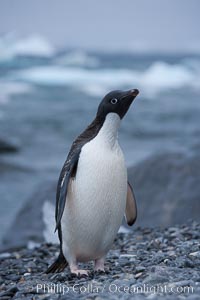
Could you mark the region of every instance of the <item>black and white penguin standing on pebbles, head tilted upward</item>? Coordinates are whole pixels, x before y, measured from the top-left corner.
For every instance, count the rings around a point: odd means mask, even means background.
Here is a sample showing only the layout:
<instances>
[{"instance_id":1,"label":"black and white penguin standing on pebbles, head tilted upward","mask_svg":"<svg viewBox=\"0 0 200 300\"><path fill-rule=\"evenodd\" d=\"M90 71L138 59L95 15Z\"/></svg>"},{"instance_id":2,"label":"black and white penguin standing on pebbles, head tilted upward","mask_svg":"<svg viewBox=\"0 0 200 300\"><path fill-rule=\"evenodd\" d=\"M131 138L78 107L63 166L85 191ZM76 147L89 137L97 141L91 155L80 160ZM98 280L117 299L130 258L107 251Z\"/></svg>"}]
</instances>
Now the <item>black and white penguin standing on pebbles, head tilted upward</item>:
<instances>
[{"instance_id":1,"label":"black and white penguin standing on pebbles, head tilted upward","mask_svg":"<svg viewBox=\"0 0 200 300\"><path fill-rule=\"evenodd\" d=\"M88 274L78 262L104 260L125 215L128 225L137 216L136 201L127 179L118 129L137 89L112 91L101 101L93 122L73 142L61 170L56 195L56 230L60 254L47 273Z\"/></svg>"}]
</instances>

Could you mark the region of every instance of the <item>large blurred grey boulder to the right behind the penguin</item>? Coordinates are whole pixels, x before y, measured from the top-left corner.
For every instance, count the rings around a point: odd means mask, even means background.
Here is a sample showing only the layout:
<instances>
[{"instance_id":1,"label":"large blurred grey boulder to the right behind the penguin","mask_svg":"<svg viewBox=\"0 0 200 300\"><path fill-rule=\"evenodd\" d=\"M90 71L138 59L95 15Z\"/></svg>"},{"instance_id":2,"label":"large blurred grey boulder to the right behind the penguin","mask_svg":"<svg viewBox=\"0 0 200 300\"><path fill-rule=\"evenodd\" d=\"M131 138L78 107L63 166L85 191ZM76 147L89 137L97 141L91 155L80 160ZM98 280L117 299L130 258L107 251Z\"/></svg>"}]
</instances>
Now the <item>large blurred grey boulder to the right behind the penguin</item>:
<instances>
[{"instance_id":1,"label":"large blurred grey boulder to the right behind the penguin","mask_svg":"<svg viewBox=\"0 0 200 300\"><path fill-rule=\"evenodd\" d=\"M188 219L199 221L199 170L199 153L154 155L130 168L129 180L138 205L136 225L170 226Z\"/></svg>"}]
</instances>

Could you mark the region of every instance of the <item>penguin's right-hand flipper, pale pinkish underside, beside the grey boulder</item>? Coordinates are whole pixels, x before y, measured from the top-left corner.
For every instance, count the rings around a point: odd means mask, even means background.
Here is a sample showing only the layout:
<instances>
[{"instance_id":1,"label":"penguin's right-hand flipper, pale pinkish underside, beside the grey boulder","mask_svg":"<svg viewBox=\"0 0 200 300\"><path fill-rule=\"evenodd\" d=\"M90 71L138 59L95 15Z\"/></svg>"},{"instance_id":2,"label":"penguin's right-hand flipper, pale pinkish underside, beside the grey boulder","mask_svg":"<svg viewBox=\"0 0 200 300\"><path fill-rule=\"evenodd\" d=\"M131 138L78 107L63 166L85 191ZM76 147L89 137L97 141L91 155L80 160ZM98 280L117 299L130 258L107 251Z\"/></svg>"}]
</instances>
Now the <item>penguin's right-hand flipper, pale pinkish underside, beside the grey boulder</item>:
<instances>
[{"instance_id":1,"label":"penguin's right-hand flipper, pale pinkish underside, beside the grey boulder","mask_svg":"<svg viewBox=\"0 0 200 300\"><path fill-rule=\"evenodd\" d=\"M129 226L132 226L137 219L137 205L136 205L135 195L129 182L127 183L125 217L126 217L126 222Z\"/></svg>"}]
</instances>

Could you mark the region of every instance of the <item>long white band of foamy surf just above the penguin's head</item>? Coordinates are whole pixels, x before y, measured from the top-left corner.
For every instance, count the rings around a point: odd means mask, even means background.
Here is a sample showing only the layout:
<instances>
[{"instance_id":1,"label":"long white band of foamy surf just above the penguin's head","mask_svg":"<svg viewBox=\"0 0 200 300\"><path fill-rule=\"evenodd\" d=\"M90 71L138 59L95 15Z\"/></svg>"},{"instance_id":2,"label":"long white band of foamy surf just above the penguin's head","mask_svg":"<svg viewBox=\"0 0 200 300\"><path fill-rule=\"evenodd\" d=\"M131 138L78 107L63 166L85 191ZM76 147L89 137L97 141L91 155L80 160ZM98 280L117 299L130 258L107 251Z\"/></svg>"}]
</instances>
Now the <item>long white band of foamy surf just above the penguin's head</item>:
<instances>
[{"instance_id":1,"label":"long white band of foamy surf just above the penguin's head","mask_svg":"<svg viewBox=\"0 0 200 300\"><path fill-rule=\"evenodd\" d=\"M191 66L154 62L144 71L84 69L61 66L34 67L13 74L13 79L36 85L73 86L89 95L109 89L138 87L155 94L167 89L199 88L200 71Z\"/></svg>"}]
</instances>

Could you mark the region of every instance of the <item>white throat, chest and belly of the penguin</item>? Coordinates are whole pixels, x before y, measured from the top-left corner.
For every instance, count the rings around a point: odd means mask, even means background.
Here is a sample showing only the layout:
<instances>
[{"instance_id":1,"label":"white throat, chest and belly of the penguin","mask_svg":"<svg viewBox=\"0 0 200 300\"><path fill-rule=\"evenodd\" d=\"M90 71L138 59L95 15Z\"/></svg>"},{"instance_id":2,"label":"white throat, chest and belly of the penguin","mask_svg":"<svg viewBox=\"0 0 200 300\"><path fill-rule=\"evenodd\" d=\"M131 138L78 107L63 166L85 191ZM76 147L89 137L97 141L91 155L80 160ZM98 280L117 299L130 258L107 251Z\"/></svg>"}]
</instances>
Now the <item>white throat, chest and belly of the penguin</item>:
<instances>
[{"instance_id":1,"label":"white throat, chest and belly of the penguin","mask_svg":"<svg viewBox=\"0 0 200 300\"><path fill-rule=\"evenodd\" d=\"M114 115L114 116L113 116ZM127 169L117 142L118 116L83 146L62 218L63 242L80 261L107 253L121 225Z\"/></svg>"}]
</instances>

